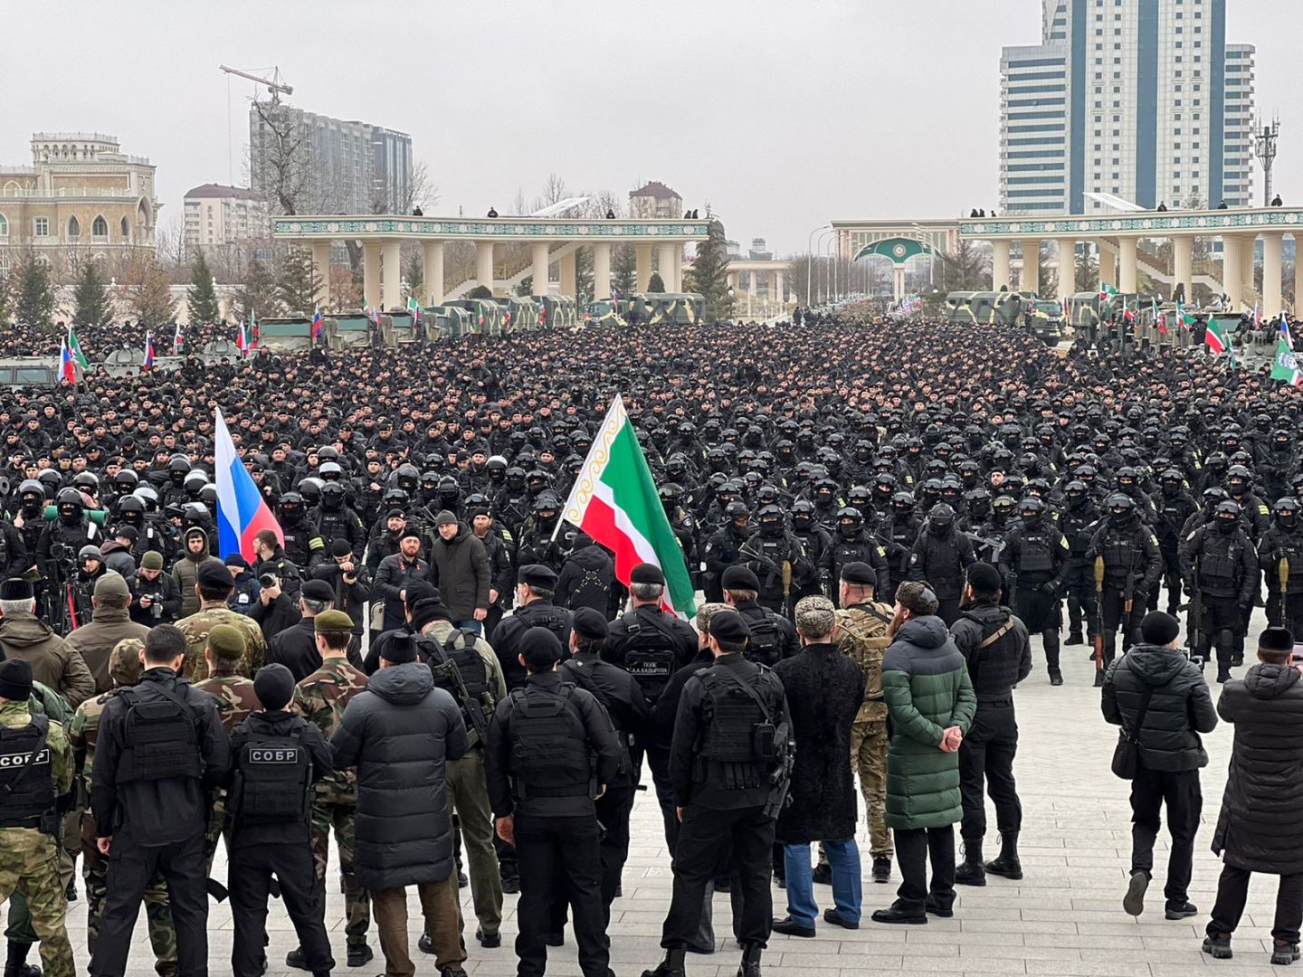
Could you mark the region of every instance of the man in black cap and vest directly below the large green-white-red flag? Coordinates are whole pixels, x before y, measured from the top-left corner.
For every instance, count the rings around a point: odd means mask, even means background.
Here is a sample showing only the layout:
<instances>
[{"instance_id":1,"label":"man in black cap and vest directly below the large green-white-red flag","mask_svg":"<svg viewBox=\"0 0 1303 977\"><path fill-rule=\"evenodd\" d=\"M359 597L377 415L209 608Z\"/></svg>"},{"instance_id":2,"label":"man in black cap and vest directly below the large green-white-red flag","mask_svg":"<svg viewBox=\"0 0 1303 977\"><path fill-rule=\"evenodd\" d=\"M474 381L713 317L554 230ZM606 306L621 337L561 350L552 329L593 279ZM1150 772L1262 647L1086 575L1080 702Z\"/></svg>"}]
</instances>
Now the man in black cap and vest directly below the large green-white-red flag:
<instances>
[{"instance_id":1,"label":"man in black cap and vest directly below the large green-white-red flag","mask_svg":"<svg viewBox=\"0 0 1303 977\"><path fill-rule=\"evenodd\" d=\"M629 601L633 610L610 628L602 660L624 668L641 688L649 709L655 706L670 677L697 654L697 634L692 625L662 610L665 574L650 563L640 563L629 573ZM652 769L652 783L665 818L666 839L674 834L674 796L670 787L670 744L640 735L631 750L633 782L641 779L642 754Z\"/></svg>"}]
</instances>

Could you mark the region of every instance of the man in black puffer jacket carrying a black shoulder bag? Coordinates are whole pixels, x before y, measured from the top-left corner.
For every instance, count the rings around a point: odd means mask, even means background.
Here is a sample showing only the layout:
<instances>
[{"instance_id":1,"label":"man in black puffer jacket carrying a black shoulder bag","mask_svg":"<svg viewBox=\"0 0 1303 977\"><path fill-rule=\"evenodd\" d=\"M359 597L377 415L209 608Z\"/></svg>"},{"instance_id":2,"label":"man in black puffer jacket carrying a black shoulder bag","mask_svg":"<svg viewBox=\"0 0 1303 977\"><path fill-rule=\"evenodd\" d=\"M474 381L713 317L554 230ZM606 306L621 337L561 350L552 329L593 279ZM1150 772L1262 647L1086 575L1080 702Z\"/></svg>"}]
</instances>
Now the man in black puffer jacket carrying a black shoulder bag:
<instances>
[{"instance_id":1,"label":"man in black puffer jacket carrying a black shoulder bag","mask_svg":"<svg viewBox=\"0 0 1303 977\"><path fill-rule=\"evenodd\" d=\"M1204 799L1199 769L1208 766L1200 733L1217 726L1199 666L1177 647L1181 625L1170 614L1152 611L1140 623L1140 644L1104 676L1104 718L1135 739L1139 763L1131 782L1131 882L1122 908L1144 912L1144 894L1153 871L1153 843L1167 805L1171 852L1167 857L1165 916L1183 920L1199 911L1187 899L1195 832Z\"/></svg>"}]
</instances>

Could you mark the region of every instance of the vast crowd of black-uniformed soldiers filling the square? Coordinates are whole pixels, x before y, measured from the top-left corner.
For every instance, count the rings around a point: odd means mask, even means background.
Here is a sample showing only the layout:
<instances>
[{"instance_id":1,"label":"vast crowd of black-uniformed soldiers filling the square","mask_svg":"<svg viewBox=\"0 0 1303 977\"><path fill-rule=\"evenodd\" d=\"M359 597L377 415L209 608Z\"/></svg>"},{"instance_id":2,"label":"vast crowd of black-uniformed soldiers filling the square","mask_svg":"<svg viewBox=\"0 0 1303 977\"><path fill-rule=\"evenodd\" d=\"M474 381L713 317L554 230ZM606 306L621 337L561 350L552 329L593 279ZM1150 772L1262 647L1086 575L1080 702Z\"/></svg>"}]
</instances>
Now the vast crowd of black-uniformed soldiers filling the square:
<instances>
[{"instance_id":1,"label":"vast crowd of black-uniformed soldiers filling the square","mask_svg":"<svg viewBox=\"0 0 1303 977\"><path fill-rule=\"evenodd\" d=\"M1216 647L1218 680L1240 664L1255 607L1303 628L1294 388L1265 370L1226 370L1203 349L1063 356L1015 328L865 318L848 306L773 330L259 353L5 391L0 578L34 581L43 612L68 630L115 563L139 595L156 586L133 572L150 551L185 580L175 571L197 556L186 554L192 530L224 556L212 485L220 406L284 531L254 576L308 577L340 559L375 576L413 531L427 552L438 516L452 512L489 552L496 598L485 637L517 688L519 636L506 632L542 624L568 636L567 607L612 619L627 595L601 547L554 533L619 392L698 589L719 601L731 568L754 574L757 606L743 616L747 654L761 664L795 653L796 602L835 601L850 564L872 567L883 597L926 581L947 624L966 568L995 565L1055 685L1065 602L1062 644L1095 645L1101 670L1162 595L1187 612L1194 657ZM512 610L506 620L524 624L503 623ZM612 625L612 645L627 645L618 628L627 624ZM672 641L674 664L691 660L692 636ZM637 664L654 705L675 670ZM667 748L648 736L633 752L648 754L662 808Z\"/></svg>"}]
</instances>

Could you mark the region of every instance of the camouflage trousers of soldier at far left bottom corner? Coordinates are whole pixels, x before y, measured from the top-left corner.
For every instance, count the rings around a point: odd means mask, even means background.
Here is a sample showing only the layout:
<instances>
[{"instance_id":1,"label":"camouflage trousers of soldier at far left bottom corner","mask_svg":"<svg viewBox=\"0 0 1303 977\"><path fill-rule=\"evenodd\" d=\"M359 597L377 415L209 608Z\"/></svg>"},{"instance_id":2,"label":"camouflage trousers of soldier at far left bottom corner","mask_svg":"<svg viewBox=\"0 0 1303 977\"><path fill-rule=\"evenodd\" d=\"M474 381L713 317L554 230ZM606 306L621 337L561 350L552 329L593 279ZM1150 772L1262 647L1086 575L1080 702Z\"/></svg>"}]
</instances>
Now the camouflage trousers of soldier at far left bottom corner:
<instances>
[{"instance_id":1,"label":"camouflage trousers of soldier at far left bottom corner","mask_svg":"<svg viewBox=\"0 0 1303 977\"><path fill-rule=\"evenodd\" d=\"M59 878L57 839L35 828L0 828L0 903L16 892L27 899L46 977L76 977L73 947L64 926L68 904Z\"/></svg>"}]
</instances>

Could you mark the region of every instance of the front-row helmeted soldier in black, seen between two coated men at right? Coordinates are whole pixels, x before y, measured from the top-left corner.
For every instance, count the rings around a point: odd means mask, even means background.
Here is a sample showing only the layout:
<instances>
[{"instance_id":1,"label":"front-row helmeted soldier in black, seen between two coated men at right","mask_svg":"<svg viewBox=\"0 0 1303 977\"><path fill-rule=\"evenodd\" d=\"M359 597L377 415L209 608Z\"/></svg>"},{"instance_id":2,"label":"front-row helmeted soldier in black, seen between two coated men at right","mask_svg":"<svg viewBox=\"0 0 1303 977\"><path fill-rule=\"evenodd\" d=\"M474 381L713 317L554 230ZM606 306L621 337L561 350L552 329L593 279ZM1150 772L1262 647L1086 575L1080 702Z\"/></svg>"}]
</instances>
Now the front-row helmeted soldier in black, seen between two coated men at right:
<instances>
[{"instance_id":1,"label":"front-row helmeted soldier in black, seen between two coated men at right","mask_svg":"<svg viewBox=\"0 0 1303 977\"><path fill-rule=\"evenodd\" d=\"M1203 620L1191 620L1187 630L1197 633L1191 655L1208 658L1217 645L1217 681L1227 681L1230 670L1242 662L1243 621L1257 593L1257 551L1240 525L1239 503L1217 503L1213 521L1199 526L1181 543L1181 574L1190 593L1199 588Z\"/></svg>"}]
</instances>

